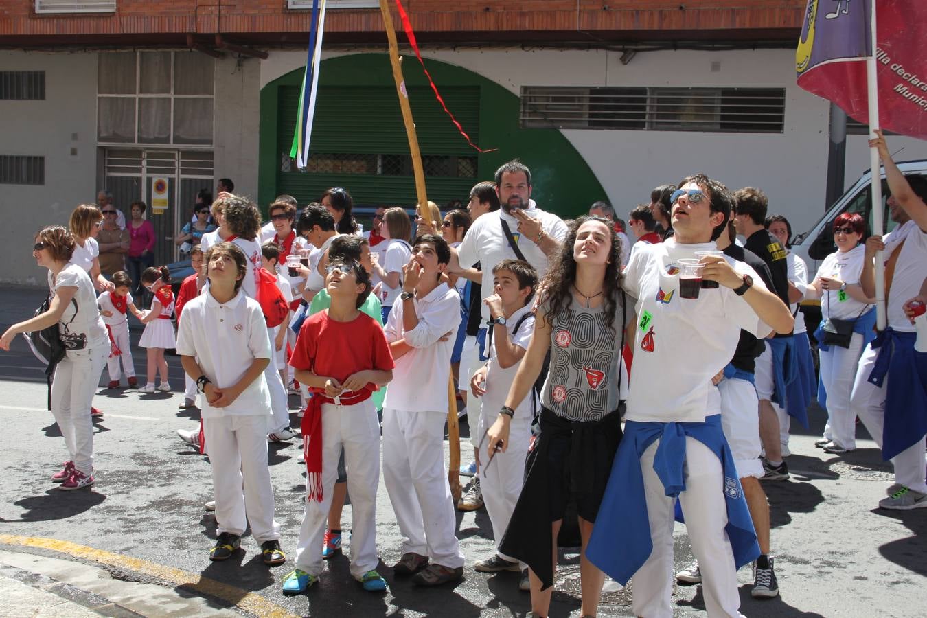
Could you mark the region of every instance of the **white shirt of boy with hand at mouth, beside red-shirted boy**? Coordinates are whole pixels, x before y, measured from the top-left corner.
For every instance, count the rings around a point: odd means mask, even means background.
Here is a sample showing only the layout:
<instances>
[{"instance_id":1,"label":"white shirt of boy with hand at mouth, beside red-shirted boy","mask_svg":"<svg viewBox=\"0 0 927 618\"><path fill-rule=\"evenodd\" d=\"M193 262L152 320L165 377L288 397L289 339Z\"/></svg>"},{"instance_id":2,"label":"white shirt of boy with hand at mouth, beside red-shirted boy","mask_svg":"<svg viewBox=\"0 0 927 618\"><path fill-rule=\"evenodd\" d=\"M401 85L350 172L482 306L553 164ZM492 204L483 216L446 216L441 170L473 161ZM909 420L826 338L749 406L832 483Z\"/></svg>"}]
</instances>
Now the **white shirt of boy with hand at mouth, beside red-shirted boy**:
<instances>
[{"instance_id":1,"label":"white shirt of boy with hand at mouth, beside red-shirted boy","mask_svg":"<svg viewBox=\"0 0 927 618\"><path fill-rule=\"evenodd\" d=\"M387 388L383 407L410 412L448 413L448 378L451 375L451 352L454 339L440 341L446 333L456 332L461 323L461 298L448 284L438 284L424 298L411 301L418 325L408 333L402 328L402 312L410 301L398 302L389 312L384 326L387 341L405 339L413 347L399 359L393 380Z\"/></svg>"}]
</instances>

